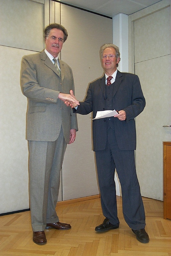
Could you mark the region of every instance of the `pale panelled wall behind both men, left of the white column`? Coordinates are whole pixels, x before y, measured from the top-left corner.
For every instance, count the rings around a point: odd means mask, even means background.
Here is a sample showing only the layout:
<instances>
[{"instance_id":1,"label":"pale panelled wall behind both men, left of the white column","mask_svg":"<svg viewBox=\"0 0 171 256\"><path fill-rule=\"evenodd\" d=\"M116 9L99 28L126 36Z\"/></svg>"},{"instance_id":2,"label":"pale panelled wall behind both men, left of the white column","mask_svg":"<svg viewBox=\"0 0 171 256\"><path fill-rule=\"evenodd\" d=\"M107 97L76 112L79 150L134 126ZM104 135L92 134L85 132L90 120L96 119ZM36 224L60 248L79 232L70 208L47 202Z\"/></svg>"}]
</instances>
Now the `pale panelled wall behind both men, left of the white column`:
<instances>
[{"instance_id":1,"label":"pale panelled wall behind both men, left of the white column","mask_svg":"<svg viewBox=\"0 0 171 256\"><path fill-rule=\"evenodd\" d=\"M102 75L99 50L105 39L112 42L112 20L48 0L0 0L0 5L0 213L5 213L29 208L27 100L19 83L22 56L42 51L44 26L61 21L69 33L61 58L73 69L76 96L82 100L88 83ZM79 116L78 124L75 145L66 151L59 200L99 194L91 115Z\"/></svg>"}]
</instances>

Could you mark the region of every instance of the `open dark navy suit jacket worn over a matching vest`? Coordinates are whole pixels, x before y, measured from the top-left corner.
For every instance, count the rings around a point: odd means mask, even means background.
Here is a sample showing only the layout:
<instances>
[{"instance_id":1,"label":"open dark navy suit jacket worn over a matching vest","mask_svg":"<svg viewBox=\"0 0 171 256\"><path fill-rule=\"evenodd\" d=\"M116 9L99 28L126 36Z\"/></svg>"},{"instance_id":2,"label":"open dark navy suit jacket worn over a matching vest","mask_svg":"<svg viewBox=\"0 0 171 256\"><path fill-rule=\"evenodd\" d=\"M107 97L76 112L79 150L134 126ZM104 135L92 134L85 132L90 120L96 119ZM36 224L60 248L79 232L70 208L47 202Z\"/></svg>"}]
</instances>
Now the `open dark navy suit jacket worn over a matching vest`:
<instances>
[{"instance_id":1,"label":"open dark navy suit jacket worn over a matching vest","mask_svg":"<svg viewBox=\"0 0 171 256\"><path fill-rule=\"evenodd\" d=\"M93 118L97 111L106 110L105 76L90 83L84 102L80 102L74 112L87 115L93 111ZM136 127L134 118L138 116L145 107L145 98L137 75L121 73L117 71L113 107L111 110L124 110L126 120L120 121L117 117L115 122L115 135L121 150L136 149ZM93 120L93 150L103 150L107 140L106 118Z\"/></svg>"}]
</instances>

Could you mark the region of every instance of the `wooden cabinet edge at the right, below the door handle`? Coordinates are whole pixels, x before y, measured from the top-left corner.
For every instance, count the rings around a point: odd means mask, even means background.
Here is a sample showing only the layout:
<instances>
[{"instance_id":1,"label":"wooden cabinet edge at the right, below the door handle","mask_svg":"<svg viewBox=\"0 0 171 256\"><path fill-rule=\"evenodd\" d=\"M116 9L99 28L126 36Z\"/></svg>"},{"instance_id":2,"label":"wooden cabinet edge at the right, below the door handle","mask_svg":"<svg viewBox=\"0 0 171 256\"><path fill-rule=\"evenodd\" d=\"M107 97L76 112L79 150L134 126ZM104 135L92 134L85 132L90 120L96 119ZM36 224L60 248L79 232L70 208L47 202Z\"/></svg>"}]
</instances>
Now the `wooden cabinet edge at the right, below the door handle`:
<instances>
[{"instance_id":1,"label":"wooden cabinet edge at the right, below the door handle","mask_svg":"<svg viewBox=\"0 0 171 256\"><path fill-rule=\"evenodd\" d=\"M171 220L171 141L163 141L163 218Z\"/></svg>"}]
</instances>

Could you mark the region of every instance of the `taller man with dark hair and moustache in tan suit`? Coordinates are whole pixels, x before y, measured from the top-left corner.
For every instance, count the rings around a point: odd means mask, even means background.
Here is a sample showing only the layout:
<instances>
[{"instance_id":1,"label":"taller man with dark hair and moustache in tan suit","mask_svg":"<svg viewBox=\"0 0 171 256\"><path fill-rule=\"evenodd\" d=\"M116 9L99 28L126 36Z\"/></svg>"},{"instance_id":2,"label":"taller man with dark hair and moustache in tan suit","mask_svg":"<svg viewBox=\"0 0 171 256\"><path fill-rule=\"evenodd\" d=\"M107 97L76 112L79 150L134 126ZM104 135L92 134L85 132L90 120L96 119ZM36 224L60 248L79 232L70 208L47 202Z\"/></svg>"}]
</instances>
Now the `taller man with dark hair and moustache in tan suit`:
<instances>
[{"instance_id":1,"label":"taller man with dark hair and moustache in tan suit","mask_svg":"<svg viewBox=\"0 0 171 256\"><path fill-rule=\"evenodd\" d=\"M68 33L60 24L44 29L46 49L24 56L21 90L27 97L26 140L29 150L29 190L33 242L46 244L45 228L70 229L56 214L65 149L74 142L77 117L63 101L79 104L71 68L58 59Z\"/></svg>"}]
</instances>

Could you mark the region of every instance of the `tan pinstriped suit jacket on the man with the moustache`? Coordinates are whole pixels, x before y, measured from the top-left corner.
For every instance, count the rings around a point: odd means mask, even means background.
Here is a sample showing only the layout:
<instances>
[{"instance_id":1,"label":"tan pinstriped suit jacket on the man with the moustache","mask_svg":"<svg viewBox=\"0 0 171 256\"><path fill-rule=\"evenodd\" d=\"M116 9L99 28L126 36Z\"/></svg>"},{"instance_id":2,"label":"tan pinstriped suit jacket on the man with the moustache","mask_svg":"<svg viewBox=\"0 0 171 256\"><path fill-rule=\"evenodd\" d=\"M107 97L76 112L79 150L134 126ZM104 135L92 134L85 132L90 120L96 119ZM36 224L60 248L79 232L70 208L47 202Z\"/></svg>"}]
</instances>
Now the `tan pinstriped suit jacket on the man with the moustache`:
<instances>
[{"instance_id":1,"label":"tan pinstriped suit jacket on the man with the moustache","mask_svg":"<svg viewBox=\"0 0 171 256\"><path fill-rule=\"evenodd\" d=\"M59 60L61 74L47 54L24 56L21 62L21 90L27 97L26 140L55 141L63 128L65 141L70 141L70 130L78 131L77 117L64 102L59 92L74 91L71 68Z\"/></svg>"}]
</instances>

